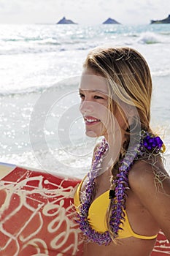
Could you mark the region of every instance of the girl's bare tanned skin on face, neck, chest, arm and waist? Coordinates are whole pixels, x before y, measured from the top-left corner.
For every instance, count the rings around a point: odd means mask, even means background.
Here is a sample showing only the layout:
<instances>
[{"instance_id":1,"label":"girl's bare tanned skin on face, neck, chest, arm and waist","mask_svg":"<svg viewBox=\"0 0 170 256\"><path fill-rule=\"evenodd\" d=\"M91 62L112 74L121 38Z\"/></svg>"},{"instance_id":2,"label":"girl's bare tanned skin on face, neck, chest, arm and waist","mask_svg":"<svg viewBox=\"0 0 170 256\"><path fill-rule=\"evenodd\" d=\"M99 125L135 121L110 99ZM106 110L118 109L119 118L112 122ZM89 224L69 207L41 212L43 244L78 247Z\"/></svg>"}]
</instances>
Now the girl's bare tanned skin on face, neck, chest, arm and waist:
<instances>
[{"instance_id":1,"label":"girl's bare tanned skin on face, neck, chest, arm and waist","mask_svg":"<svg viewBox=\"0 0 170 256\"><path fill-rule=\"evenodd\" d=\"M85 68L80 83L80 111L85 119L86 135L103 135L109 143L112 161L115 161L125 140L125 134L122 132L125 129L125 122L119 113L115 113L115 130L111 129L106 120L109 111L107 95L108 89L104 78ZM115 148L118 148L116 152ZM159 172L168 176L160 157L155 165ZM102 165L102 168L101 175L96 178L96 195L93 200L110 188L111 169L108 165ZM155 172L158 170L155 169ZM131 189L128 189L126 212L132 230L143 236L154 236L161 229L170 241L170 179L164 177L161 184L155 183L155 173L149 160L139 159L132 166L128 181ZM85 184L82 190L84 187ZM149 256L155 244L155 239L144 240L134 237L117 241L118 244L112 243L109 246L85 242L84 256Z\"/></svg>"}]
</instances>

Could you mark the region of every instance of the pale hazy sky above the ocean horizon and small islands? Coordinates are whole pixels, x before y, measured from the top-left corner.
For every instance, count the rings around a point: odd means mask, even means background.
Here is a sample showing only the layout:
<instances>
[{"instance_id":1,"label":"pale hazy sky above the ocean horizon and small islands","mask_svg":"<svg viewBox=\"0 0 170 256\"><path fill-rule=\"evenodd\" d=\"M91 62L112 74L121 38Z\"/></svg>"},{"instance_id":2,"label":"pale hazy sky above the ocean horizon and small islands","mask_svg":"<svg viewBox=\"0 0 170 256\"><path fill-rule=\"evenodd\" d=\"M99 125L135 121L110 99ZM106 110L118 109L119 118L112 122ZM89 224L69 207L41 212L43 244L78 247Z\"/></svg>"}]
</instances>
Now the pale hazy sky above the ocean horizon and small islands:
<instances>
[{"instance_id":1,"label":"pale hazy sky above the ocean horizon and small islands","mask_svg":"<svg viewBox=\"0 0 170 256\"><path fill-rule=\"evenodd\" d=\"M0 23L57 23L65 16L80 25L107 18L147 24L169 14L170 0L0 0Z\"/></svg>"}]
</instances>

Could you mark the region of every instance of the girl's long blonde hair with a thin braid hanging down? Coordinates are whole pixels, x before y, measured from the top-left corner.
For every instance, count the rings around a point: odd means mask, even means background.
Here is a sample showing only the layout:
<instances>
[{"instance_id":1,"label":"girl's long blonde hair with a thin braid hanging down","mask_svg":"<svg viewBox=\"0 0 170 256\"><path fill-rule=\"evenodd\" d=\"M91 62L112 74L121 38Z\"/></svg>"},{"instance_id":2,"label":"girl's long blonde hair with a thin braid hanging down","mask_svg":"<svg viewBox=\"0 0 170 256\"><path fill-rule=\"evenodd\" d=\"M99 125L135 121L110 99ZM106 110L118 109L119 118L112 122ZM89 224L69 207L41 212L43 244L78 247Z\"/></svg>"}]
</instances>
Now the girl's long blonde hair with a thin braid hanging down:
<instances>
[{"instance_id":1,"label":"girl's long blonde hair with a thin braid hanging down","mask_svg":"<svg viewBox=\"0 0 170 256\"><path fill-rule=\"evenodd\" d=\"M127 123L118 101L113 99L116 97L128 107L134 105L139 115L137 122L140 123L141 129L152 132L150 129L152 79L147 62L138 51L127 47L95 48L88 53L83 67L92 69L96 75L106 78L109 89L108 108L112 113L118 110ZM135 121L132 120L132 123ZM125 132L128 133L127 130ZM123 149L127 150L127 146L128 143L124 145ZM115 164L112 167L111 189L114 189L113 179L117 174L117 169L117 164ZM108 209L107 225L112 235L112 230L109 227L111 204L112 200Z\"/></svg>"}]
</instances>

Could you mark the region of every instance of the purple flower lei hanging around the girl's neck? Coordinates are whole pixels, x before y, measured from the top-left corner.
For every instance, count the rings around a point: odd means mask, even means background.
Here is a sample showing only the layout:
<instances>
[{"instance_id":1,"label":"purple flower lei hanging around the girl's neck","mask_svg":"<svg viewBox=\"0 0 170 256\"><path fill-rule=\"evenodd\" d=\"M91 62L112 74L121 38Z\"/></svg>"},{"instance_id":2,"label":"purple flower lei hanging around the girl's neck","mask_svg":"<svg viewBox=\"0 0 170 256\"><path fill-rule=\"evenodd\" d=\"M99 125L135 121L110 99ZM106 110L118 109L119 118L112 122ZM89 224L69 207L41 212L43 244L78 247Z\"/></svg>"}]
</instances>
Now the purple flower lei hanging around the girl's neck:
<instances>
[{"instance_id":1,"label":"purple flower lei hanging around the girl's neck","mask_svg":"<svg viewBox=\"0 0 170 256\"><path fill-rule=\"evenodd\" d=\"M88 223L88 210L93 200L95 178L98 176L98 173L101 170L102 158L104 157L104 154L108 148L109 146L107 141L103 139L101 146L95 153L92 169L88 173L88 181L85 186L85 195L79 208L80 213L77 214L77 222L80 225L80 230L82 230L82 233L87 237L88 241L94 242L98 245L108 245L111 243L112 238L109 231L99 233L90 227L90 224ZM112 200L112 217L109 219L109 225L112 229L112 233L114 234L113 238L117 238L118 231L121 229L120 224L124 220L126 189L129 189L128 171L131 169L135 159L153 151L156 154L163 151L163 141L161 138L153 137L149 134L149 132L142 130L139 143L136 143L136 145L132 148L128 148L127 154L123 159L120 160L119 172L117 173L114 181L115 192L111 190L109 197Z\"/></svg>"}]
</instances>

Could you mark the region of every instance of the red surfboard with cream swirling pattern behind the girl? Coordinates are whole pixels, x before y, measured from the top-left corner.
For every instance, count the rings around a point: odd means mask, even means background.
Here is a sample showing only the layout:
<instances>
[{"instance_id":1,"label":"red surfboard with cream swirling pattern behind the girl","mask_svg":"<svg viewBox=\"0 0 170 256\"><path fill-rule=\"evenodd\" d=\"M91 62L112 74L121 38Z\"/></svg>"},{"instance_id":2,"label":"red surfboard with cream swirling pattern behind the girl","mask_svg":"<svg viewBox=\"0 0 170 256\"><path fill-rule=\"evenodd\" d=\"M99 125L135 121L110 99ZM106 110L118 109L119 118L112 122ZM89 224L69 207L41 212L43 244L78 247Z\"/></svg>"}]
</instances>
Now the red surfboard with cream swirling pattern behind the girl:
<instances>
[{"instance_id":1,"label":"red surfboard with cream swirling pattern behind the girl","mask_svg":"<svg viewBox=\"0 0 170 256\"><path fill-rule=\"evenodd\" d=\"M75 219L78 178L0 164L0 255L83 255L82 234ZM170 255L170 244L158 234L151 256Z\"/></svg>"}]
</instances>

